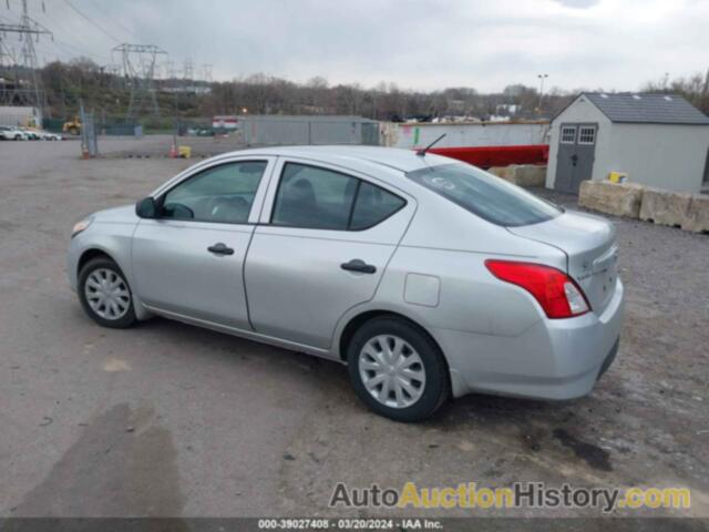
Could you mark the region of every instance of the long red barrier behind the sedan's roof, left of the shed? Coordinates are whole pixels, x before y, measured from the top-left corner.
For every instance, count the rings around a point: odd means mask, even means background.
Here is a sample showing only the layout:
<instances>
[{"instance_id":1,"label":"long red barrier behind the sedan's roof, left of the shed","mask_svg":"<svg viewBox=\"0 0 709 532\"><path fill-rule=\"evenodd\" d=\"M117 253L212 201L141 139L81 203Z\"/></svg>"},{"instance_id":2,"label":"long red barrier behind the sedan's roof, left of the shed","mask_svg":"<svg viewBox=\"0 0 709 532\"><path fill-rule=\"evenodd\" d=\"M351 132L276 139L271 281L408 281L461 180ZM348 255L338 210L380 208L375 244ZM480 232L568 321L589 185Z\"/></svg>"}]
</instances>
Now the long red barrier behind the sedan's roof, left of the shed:
<instances>
[{"instance_id":1,"label":"long red barrier behind the sedan's roof, left of the shed","mask_svg":"<svg viewBox=\"0 0 709 532\"><path fill-rule=\"evenodd\" d=\"M523 146L466 146L432 147L429 153L458 158L469 164L490 168L511 164L546 164L549 157L548 144Z\"/></svg>"}]
</instances>

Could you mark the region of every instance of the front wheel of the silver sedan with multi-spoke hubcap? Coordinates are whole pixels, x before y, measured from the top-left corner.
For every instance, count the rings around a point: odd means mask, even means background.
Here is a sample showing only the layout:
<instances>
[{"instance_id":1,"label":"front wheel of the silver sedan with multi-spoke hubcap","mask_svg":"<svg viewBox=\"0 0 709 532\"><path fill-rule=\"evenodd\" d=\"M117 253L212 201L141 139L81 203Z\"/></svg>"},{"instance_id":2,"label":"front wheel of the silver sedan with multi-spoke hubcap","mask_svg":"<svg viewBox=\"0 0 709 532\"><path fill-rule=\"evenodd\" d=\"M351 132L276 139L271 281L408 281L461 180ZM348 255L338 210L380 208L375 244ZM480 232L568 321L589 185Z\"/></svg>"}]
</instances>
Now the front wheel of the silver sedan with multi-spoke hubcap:
<instances>
[{"instance_id":1,"label":"front wheel of the silver sedan with multi-spoke hubcap","mask_svg":"<svg viewBox=\"0 0 709 532\"><path fill-rule=\"evenodd\" d=\"M135 323L131 287L119 265L94 258L79 274L79 300L99 325L123 329Z\"/></svg>"}]
</instances>

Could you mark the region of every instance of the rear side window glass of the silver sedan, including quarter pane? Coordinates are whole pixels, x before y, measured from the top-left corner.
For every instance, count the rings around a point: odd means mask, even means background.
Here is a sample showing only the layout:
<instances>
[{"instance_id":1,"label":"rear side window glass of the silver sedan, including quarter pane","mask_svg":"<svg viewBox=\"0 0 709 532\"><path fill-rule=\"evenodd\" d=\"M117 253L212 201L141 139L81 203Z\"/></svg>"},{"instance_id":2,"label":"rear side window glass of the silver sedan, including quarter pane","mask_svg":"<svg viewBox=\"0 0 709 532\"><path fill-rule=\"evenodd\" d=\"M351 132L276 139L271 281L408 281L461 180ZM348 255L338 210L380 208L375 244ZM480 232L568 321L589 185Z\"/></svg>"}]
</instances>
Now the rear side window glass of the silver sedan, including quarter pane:
<instances>
[{"instance_id":1,"label":"rear side window glass of the silver sedan, including quarter pane","mask_svg":"<svg viewBox=\"0 0 709 532\"><path fill-rule=\"evenodd\" d=\"M383 188L331 170L297 163L284 167L271 224L311 229L361 231L405 202Z\"/></svg>"}]
</instances>

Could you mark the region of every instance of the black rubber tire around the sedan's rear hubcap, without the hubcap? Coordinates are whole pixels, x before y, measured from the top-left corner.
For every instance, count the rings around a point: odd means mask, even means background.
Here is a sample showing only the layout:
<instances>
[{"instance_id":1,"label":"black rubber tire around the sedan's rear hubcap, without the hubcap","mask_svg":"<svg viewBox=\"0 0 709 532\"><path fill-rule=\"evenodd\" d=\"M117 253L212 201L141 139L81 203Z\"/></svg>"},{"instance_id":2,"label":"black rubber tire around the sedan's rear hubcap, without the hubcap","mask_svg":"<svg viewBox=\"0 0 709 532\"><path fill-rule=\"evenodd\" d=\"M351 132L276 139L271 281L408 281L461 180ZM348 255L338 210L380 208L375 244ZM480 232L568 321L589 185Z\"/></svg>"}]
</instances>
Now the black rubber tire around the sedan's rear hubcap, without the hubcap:
<instances>
[{"instance_id":1,"label":"black rubber tire around the sedan's rear hubcap, without the hubcap","mask_svg":"<svg viewBox=\"0 0 709 532\"><path fill-rule=\"evenodd\" d=\"M423 393L411 406L383 405L367 390L359 369L366 344L380 335L392 335L407 341L420 356L425 370ZM394 421L414 422L430 418L450 397L449 369L441 349L420 327L395 316L373 318L362 325L347 346L350 381L359 398L374 412Z\"/></svg>"}]
</instances>

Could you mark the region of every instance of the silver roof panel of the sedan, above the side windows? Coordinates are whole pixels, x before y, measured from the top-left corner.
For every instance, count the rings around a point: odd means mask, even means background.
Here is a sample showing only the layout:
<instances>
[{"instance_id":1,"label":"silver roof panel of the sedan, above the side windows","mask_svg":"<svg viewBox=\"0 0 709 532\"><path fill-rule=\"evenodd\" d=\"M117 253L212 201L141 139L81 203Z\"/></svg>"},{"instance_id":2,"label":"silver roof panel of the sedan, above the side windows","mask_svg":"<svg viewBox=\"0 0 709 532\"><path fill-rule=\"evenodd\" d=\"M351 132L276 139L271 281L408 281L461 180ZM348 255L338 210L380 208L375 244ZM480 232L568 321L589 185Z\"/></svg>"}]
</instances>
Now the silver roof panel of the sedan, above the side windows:
<instances>
[{"instance_id":1,"label":"silver roof panel of the sedan, above the side windows","mask_svg":"<svg viewBox=\"0 0 709 532\"><path fill-rule=\"evenodd\" d=\"M232 154L304 157L335 164L347 164L347 162L351 163L353 161L359 161L363 163L374 163L401 172L411 172L414 170L456 162L432 153L421 156L417 155L417 152L413 150L382 146L276 146L243 150L233 152Z\"/></svg>"}]
</instances>

